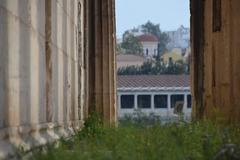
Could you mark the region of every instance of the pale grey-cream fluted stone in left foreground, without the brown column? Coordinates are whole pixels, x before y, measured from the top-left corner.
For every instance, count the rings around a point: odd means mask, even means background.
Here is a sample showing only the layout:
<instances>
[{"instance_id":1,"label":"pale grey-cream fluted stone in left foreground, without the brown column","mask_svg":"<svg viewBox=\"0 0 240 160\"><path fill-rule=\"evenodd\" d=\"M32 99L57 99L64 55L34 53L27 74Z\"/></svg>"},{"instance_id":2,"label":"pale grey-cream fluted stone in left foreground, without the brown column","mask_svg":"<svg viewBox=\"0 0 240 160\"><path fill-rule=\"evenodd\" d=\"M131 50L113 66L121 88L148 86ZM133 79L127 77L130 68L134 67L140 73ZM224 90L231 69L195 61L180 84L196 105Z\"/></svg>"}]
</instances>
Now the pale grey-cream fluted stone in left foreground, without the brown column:
<instances>
[{"instance_id":1,"label":"pale grey-cream fluted stone in left foreground, without the brown column","mask_svg":"<svg viewBox=\"0 0 240 160\"><path fill-rule=\"evenodd\" d=\"M0 159L79 129L82 0L0 0Z\"/></svg>"}]
</instances>

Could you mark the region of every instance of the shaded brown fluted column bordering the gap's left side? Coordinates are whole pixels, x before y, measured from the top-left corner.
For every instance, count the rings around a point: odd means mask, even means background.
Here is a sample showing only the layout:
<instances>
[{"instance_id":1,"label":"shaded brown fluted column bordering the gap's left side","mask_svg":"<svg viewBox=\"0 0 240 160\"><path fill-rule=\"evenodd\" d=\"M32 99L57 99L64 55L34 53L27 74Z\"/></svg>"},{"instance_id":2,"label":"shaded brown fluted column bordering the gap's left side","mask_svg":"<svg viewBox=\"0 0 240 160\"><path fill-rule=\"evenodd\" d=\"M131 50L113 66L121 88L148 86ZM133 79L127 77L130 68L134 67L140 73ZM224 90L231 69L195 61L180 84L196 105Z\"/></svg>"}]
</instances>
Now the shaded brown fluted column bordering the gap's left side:
<instances>
[{"instance_id":1,"label":"shaded brown fluted column bordering the gap's left side","mask_svg":"<svg viewBox=\"0 0 240 160\"><path fill-rule=\"evenodd\" d=\"M110 124L116 121L115 1L87 4L89 107Z\"/></svg>"}]
</instances>

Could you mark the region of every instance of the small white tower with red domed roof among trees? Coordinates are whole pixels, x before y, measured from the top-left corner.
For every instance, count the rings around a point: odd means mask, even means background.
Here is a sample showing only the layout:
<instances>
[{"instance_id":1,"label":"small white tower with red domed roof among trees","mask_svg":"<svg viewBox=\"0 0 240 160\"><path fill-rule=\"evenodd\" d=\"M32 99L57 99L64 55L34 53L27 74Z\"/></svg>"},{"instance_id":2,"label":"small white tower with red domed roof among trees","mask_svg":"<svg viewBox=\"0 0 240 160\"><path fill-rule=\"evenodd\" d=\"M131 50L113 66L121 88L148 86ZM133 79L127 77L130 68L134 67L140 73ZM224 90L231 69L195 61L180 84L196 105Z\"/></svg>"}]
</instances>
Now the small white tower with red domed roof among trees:
<instances>
[{"instance_id":1,"label":"small white tower with red domed roof among trees","mask_svg":"<svg viewBox=\"0 0 240 160\"><path fill-rule=\"evenodd\" d=\"M143 46L143 53L145 57L153 57L158 52L158 37L152 34L143 34L138 36L139 41Z\"/></svg>"}]
</instances>

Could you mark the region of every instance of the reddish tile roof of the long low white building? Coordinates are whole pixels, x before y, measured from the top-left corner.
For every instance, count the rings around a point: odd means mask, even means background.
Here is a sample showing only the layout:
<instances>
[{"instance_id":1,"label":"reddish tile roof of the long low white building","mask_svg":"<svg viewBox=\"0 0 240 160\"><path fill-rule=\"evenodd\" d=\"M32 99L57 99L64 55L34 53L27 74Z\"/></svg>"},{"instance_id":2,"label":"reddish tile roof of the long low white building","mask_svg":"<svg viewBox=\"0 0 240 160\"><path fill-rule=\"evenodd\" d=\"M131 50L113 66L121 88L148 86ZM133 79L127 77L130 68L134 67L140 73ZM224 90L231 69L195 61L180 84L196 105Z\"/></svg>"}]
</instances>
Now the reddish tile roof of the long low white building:
<instances>
[{"instance_id":1,"label":"reddish tile roof of the long low white building","mask_svg":"<svg viewBox=\"0 0 240 160\"><path fill-rule=\"evenodd\" d=\"M128 75L117 77L118 88L190 87L189 75Z\"/></svg>"}]
</instances>

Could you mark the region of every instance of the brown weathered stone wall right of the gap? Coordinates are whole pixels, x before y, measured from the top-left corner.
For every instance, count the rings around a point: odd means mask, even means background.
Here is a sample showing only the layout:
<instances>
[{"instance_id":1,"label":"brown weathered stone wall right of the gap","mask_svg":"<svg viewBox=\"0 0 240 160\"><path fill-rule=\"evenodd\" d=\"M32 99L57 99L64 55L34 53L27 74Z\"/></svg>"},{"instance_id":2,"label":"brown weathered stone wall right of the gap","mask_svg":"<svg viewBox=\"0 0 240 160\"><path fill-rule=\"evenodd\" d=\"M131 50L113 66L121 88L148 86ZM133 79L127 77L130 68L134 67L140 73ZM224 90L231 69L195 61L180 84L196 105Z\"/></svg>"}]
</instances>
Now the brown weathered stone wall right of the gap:
<instances>
[{"instance_id":1,"label":"brown weathered stone wall right of the gap","mask_svg":"<svg viewBox=\"0 0 240 160\"><path fill-rule=\"evenodd\" d=\"M240 1L191 1L195 116L240 121Z\"/></svg>"}]
</instances>

